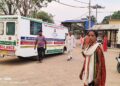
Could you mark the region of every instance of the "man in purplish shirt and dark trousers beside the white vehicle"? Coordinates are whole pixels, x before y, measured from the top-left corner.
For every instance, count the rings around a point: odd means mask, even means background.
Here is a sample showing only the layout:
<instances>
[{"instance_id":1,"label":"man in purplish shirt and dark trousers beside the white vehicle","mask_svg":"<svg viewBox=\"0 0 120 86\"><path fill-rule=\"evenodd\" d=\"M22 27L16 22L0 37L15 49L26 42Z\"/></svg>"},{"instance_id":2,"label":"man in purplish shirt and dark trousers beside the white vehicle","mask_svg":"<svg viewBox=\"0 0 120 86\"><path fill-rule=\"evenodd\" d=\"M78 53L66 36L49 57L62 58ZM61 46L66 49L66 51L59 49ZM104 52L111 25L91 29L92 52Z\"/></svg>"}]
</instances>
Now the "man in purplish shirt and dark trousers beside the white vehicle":
<instances>
[{"instance_id":1,"label":"man in purplish shirt and dark trousers beside the white vehicle","mask_svg":"<svg viewBox=\"0 0 120 86\"><path fill-rule=\"evenodd\" d=\"M42 62L46 50L46 40L45 37L42 35L42 31L39 31L38 36L36 38L34 49L36 49L36 47L38 53L38 61Z\"/></svg>"}]
</instances>

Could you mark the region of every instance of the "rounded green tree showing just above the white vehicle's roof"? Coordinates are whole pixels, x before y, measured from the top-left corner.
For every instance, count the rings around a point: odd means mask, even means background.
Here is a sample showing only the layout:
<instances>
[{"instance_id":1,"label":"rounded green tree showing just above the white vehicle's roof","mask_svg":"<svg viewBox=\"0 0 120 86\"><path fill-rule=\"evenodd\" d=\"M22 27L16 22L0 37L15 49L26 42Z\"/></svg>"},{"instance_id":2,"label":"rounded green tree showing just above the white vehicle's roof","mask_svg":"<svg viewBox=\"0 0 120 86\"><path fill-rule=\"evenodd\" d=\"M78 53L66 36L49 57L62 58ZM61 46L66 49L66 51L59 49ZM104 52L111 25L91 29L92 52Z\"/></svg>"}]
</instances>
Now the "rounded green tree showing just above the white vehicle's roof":
<instances>
[{"instance_id":1,"label":"rounded green tree showing just above the white vehicle's roof","mask_svg":"<svg viewBox=\"0 0 120 86\"><path fill-rule=\"evenodd\" d=\"M32 17L42 19L45 22L54 23L52 14L48 14L44 11L38 13L32 13Z\"/></svg>"}]
</instances>

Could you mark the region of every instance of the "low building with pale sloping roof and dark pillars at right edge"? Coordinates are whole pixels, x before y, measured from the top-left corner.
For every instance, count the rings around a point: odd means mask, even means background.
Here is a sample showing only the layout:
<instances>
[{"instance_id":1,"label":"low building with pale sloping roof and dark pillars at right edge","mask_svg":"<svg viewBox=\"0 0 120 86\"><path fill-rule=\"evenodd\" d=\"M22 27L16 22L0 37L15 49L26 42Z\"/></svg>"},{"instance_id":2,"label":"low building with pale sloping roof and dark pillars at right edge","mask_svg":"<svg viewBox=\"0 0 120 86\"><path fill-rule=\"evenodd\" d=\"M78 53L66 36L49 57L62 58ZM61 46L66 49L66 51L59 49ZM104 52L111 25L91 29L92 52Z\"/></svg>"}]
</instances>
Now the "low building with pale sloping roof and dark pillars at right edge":
<instances>
[{"instance_id":1,"label":"low building with pale sloping roof and dark pillars at right edge","mask_svg":"<svg viewBox=\"0 0 120 86\"><path fill-rule=\"evenodd\" d=\"M98 36L100 36L102 39L104 34L107 35L109 47L117 47L117 41L118 41L117 34L119 29L120 29L120 24L102 24L102 25L94 25L92 27L92 30L98 31Z\"/></svg>"}]
</instances>

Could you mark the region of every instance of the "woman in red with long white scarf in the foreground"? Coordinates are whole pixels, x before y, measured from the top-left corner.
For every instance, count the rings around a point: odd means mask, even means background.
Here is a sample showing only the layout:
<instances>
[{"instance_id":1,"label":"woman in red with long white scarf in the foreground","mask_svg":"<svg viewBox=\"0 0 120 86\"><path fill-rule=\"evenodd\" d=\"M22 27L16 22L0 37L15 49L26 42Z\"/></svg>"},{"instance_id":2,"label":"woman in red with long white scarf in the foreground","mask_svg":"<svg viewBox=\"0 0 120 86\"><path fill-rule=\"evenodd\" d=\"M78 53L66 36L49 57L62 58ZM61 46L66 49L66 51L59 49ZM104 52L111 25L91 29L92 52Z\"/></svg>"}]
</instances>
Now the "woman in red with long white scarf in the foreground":
<instances>
[{"instance_id":1,"label":"woman in red with long white scarf in the foreground","mask_svg":"<svg viewBox=\"0 0 120 86\"><path fill-rule=\"evenodd\" d=\"M83 80L84 86L105 86L106 67L103 51L96 42L96 32L89 31L88 36L89 46L83 51L85 61L80 79Z\"/></svg>"}]
</instances>

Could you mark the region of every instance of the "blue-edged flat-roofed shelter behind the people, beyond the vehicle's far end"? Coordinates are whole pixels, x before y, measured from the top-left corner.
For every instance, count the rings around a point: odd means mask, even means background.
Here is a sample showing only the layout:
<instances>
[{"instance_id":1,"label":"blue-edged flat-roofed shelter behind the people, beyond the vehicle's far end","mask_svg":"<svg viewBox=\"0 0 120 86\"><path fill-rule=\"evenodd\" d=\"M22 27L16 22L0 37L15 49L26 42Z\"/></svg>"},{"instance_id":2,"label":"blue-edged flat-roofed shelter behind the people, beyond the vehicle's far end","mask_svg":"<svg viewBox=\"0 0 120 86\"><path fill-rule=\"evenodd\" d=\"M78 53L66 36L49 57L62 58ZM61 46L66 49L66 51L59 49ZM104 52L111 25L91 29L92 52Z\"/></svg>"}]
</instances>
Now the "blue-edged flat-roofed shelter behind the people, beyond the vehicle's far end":
<instances>
[{"instance_id":1,"label":"blue-edged flat-roofed shelter behind the people, beyond the vehicle's far end","mask_svg":"<svg viewBox=\"0 0 120 86\"><path fill-rule=\"evenodd\" d=\"M91 27L95 24L95 22L91 21ZM80 37L84 31L89 28L89 20L87 18L82 18L80 20L65 20L62 22L62 25L68 27L69 31L72 31L76 38Z\"/></svg>"}]
</instances>

